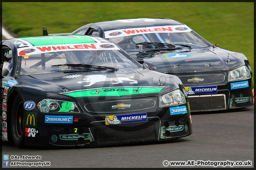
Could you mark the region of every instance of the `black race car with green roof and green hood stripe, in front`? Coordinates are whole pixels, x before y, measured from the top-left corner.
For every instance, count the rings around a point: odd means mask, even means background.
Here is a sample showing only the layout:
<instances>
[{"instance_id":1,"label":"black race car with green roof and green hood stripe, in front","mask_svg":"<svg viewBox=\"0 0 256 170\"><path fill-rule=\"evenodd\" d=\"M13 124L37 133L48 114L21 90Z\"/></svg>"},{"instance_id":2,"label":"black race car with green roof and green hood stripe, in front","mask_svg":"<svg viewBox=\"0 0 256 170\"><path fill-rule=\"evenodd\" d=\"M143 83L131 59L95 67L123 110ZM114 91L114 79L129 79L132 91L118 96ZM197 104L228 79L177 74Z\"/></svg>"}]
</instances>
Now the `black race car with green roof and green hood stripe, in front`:
<instances>
[{"instance_id":1,"label":"black race car with green roof and green hood stripe, in front","mask_svg":"<svg viewBox=\"0 0 256 170\"><path fill-rule=\"evenodd\" d=\"M144 68L105 39L1 43L1 137L23 146L101 146L192 134L181 80Z\"/></svg>"}]
</instances>

